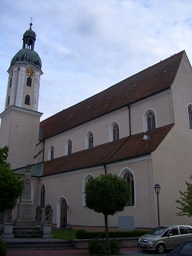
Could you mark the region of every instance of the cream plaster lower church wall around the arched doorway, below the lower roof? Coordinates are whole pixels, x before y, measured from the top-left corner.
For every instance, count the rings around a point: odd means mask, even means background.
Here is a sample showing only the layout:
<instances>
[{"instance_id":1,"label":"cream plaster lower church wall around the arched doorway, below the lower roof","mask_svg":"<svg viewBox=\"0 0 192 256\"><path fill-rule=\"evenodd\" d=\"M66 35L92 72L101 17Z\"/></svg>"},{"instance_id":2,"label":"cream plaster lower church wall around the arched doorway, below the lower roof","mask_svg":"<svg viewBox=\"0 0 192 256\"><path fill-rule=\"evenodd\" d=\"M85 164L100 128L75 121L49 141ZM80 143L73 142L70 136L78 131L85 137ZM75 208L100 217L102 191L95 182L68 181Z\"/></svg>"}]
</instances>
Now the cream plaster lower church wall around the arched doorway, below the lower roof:
<instances>
[{"instance_id":1,"label":"cream plaster lower church wall around the arched doorway, below the lower roof","mask_svg":"<svg viewBox=\"0 0 192 256\"><path fill-rule=\"evenodd\" d=\"M138 160L138 159L137 159ZM109 226L118 226L118 216L134 216L135 226L154 226L154 191L150 158L139 161L121 162L106 166L108 173L120 174L123 168L130 168L135 178L135 206L126 207L124 211L109 217ZM46 185L46 205L50 204L54 210L53 222L58 224L57 202L61 197L66 198L70 213L68 221L74 226L104 226L102 214L94 213L82 205L82 184L87 174L97 177L104 174L103 166L94 169L79 170L42 178Z\"/></svg>"}]
</instances>

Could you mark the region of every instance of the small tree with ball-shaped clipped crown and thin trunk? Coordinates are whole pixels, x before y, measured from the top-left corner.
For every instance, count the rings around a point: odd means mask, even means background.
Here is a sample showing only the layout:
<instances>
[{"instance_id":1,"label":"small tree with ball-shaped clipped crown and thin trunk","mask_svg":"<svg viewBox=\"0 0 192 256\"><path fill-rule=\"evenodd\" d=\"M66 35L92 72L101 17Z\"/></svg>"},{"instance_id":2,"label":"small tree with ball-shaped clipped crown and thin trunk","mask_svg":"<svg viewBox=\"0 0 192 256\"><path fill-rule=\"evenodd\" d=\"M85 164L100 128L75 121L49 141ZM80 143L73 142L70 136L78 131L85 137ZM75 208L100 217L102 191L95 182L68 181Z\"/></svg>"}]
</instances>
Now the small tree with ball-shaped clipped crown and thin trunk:
<instances>
[{"instance_id":1,"label":"small tree with ball-shaped clipped crown and thin trunk","mask_svg":"<svg viewBox=\"0 0 192 256\"><path fill-rule=\"evenodd\" d=\"M130 200L127 182L113 174L101 174L85 185L86 206L105 217L106 243L110 253L108 215L122 211Z\"/></svg>"}]
</instances>

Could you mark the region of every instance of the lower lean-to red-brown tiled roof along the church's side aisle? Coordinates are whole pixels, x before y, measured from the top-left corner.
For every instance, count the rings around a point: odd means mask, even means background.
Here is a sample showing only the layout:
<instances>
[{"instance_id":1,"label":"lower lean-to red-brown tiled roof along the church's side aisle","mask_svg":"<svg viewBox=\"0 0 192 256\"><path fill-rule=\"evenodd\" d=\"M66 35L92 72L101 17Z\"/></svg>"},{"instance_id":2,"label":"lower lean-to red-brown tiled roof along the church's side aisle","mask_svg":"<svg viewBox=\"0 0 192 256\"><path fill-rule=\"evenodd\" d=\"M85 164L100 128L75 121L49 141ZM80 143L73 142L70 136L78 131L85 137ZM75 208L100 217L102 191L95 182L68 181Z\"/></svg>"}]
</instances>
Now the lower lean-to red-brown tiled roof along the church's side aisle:
<instances>
[{"instance_id":1,"label":"lower lean-to red-brown tiled roof along the church's side aisle","mask_svg":"<svg viewBox=\"0 0 192 256\"><path fill-rule=\"evenodd\" d=\"M173 126L163 126L145 133L148 135L148 140L142 140L144 133L135 134L44 162L42 176L61 174L150 154L158 148Z\"/></svg>"}]
</instances>

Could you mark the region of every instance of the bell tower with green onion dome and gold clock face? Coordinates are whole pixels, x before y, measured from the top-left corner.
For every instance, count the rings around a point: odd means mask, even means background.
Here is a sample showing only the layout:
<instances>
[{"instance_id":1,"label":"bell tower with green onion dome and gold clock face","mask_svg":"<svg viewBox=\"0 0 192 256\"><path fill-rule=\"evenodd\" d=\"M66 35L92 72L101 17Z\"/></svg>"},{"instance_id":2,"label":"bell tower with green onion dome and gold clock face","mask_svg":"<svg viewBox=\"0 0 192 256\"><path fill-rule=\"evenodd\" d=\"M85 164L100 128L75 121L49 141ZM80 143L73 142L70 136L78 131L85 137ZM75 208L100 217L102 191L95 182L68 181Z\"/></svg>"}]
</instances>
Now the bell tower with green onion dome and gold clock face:
<instances>
[{"instance_id":1,"label":"bell tower with green onion dome and gold clock face","mask_svg":"<svg viewBox=\"0 0 192 256\"><path fill-rule=\"evenodd\" d=\"M22 49L10 62L5 110L0 114L0 147L9 147L7 161L12 169L34 163L42 116L38 112L42 61L34 51L36 34L31 26L23 34Z\"/></svg>"}]
</instances>

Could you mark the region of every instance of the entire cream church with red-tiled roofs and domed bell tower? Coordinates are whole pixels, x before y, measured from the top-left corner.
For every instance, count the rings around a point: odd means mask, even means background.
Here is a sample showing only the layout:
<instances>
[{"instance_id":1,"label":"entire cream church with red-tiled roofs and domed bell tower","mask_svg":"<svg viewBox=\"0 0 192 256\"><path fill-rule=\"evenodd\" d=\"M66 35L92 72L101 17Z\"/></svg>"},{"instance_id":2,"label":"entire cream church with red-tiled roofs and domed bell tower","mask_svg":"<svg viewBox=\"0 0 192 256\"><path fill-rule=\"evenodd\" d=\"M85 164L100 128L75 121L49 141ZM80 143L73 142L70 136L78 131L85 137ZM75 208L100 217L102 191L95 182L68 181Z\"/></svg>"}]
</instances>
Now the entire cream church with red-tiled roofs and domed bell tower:
<instances>
[{"instance_id":1,"label":"entire cream church with red-tiled roofs and domed bell tower","mask_svg":"<svg viewBox=\"0 0 192 256\"><path fill-rule=\"evenodd\" d=\"M50 205L55 227L104 226L103 215L86 207L84 187L110 173L131 190L125 209L109 216L110 227L158 226L155 184L161 225L191 224L176 215L175 202L192 174L192 69L185 50L40 122L42 62L31 27L8 69L0 147L9 147L14 173L30 166L34 215L37 206Z\"/></svg>"}]
</instances>

